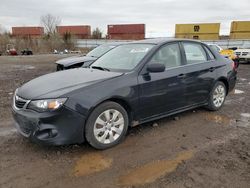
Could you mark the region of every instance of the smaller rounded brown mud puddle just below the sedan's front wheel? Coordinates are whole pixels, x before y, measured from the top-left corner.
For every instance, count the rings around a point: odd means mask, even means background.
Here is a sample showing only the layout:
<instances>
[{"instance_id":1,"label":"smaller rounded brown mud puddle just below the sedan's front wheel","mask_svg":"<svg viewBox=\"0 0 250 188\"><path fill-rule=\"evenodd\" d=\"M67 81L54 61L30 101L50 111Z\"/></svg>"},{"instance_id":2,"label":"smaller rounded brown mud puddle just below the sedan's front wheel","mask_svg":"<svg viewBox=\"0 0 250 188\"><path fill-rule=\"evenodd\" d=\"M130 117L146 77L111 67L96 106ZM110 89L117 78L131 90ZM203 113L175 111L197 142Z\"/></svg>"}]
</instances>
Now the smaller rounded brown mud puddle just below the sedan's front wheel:
<instances>
[{"instance_id":1,"label":"smaller rounded brown mud puddle just below the sedan's front wheel","mask_svg":"<svg viewBox=\"0 0 250 188\"><path fill-rule=\"evenodd\" d=\"M76 162L72 175L75 177L90 175L108 169L111 165L112 159L97 152L89 153Z\"/></svg>"}]
</instances>

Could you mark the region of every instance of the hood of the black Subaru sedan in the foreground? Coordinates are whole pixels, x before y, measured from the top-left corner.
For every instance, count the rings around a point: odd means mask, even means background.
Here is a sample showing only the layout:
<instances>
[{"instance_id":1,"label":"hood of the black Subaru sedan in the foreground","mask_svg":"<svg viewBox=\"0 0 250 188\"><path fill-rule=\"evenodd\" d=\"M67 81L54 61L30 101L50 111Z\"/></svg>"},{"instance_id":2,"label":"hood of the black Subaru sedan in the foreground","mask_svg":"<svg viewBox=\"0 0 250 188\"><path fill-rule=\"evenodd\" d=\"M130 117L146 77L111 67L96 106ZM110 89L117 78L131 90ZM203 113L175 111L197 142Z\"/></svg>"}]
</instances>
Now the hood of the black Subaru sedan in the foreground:
<instances>
[{"instance_id":1,"label":"hood of the black Subaru sedan in the foreground","mask_svg":"<svg viewBox=\"0 0 250 188\"><path fill-rule=\"evenodd\" d=\"M35 78L20 88L17 95L24 99L57 98L73 90L95 84L123 73L78 68L50 73Z\"/></svg>"}]
</instances>

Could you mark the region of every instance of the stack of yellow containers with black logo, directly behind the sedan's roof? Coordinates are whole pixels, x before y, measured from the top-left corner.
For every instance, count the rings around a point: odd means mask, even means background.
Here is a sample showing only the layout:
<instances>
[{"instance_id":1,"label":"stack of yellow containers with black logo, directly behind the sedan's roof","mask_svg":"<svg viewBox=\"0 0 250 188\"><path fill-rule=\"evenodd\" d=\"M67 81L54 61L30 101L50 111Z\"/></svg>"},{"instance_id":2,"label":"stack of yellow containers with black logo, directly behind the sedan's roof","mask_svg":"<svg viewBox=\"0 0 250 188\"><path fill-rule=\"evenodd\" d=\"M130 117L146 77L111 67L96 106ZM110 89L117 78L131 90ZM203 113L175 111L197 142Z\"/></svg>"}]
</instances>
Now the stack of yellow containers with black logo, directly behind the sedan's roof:
<instances>
[{"instance_id":1,"label":"stack of yellow containers with black logo, directly behind the sedan's roof","mask_svg":"<svg viewBox=\"0 0 250 188\"><path fill-rule=\"evenodd\" d=\"M175 38L219 40L220 23L176 24Z\"/></svg>"}]
</instances>

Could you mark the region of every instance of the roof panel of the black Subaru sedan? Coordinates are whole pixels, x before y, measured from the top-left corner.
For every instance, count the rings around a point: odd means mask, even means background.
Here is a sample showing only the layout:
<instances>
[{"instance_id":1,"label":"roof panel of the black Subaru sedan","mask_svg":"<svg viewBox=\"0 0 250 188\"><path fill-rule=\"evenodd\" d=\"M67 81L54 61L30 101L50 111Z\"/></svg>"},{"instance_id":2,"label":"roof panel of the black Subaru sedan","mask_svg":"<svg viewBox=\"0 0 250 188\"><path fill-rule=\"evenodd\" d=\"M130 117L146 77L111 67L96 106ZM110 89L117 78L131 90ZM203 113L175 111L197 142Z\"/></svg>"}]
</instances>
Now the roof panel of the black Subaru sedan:
<instances>
[{"instance_id":1,"label":"roof panel of the black Subaru sedan","mask_svg":"<svg viewBox=\"0 0 250 188\"><path fill-rule=\"evenodd\" d=\"M145 43L145 44L163 44L167 42L179 42L179 41L190 41L190 42L201 42L199 40L192 40L192 39L176 39L176 38L154 38L154 39L145 39L145 40L138 40L130 43Z\"/></svg>"}]
</instances>

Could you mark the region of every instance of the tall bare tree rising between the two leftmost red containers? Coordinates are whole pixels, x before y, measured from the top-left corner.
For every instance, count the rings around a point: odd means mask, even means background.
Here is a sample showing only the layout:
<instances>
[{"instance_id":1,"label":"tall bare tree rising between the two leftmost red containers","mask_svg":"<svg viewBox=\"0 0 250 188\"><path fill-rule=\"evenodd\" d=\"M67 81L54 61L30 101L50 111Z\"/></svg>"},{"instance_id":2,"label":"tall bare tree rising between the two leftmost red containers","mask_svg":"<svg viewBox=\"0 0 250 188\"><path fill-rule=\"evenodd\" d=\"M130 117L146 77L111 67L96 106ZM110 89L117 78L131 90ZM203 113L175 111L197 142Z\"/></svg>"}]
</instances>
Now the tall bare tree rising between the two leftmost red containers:
<instances>
[{"instance_id":1,"label":"tall bare tree rising between the two leftmost red containers","mask_svg":"<svg viewBox=\"0 0 250 188\"><path fill-rule=\"evenodd\" d=\"M47 14L41 16L41 24L44 26L45 33L52 35L56 33L56 26L61 23L61 19L57 16Z\"/></svg>"}]
</instances>

